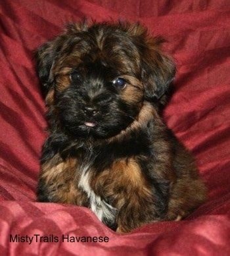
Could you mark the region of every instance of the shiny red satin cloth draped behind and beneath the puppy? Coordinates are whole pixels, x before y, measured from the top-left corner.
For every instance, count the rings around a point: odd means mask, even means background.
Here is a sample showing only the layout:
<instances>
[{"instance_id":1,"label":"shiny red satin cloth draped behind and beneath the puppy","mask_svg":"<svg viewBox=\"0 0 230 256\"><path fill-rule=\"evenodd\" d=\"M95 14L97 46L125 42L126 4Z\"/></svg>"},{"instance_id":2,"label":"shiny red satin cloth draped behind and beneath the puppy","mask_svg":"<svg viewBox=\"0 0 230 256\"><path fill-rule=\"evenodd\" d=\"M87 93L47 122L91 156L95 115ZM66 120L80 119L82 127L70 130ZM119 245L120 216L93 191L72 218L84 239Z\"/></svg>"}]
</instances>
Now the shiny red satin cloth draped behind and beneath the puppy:
<instances>
[{"instance_id":1,"label":"shiny red satin cloth draped behind and beneath the puppy","mask_svg":"<svg viewBox=\"0 0 230 256\"><path fill-rule=\"evenodd\" d=\"M168 39L177 76L164 118L193 151L209 190L208 202L187 219L121 235L89 209L35 202L46 122L33 51L84 16L139 20ZM1 255L230 255L229 0L1 0L0 32ZM16 234L25 241L11 241ZM36 242L41 236L49 242ZM62 242L62 236L109 241Z\"/></svg>"}]
</instances>

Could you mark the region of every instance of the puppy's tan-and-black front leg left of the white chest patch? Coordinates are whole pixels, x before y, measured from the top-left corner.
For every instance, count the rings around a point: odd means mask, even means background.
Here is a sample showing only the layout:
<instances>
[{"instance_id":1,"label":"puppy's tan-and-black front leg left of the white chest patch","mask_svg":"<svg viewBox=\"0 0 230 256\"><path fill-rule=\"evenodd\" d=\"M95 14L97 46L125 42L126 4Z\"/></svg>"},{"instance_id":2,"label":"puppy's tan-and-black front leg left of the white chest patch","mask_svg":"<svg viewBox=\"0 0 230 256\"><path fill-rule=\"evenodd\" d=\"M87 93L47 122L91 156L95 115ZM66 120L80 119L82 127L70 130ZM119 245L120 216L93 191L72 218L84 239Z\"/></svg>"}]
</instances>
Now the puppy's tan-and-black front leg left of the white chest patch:
<instances>
[{"instance_id":1,"label":"puppy's tan-and-black front leg left of the white chest patch","mask_svg":"<svg viewBox=\"0 0 230 256\"><path fill-rule=\"evenodd\" d=\"M39 201L87 205L87 195L78 188L76 159L53 159L41 165L37 197Z\"/></svg>"}]
</instances>

